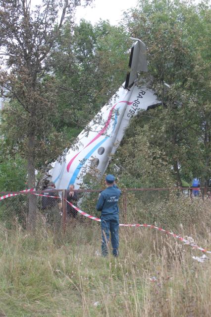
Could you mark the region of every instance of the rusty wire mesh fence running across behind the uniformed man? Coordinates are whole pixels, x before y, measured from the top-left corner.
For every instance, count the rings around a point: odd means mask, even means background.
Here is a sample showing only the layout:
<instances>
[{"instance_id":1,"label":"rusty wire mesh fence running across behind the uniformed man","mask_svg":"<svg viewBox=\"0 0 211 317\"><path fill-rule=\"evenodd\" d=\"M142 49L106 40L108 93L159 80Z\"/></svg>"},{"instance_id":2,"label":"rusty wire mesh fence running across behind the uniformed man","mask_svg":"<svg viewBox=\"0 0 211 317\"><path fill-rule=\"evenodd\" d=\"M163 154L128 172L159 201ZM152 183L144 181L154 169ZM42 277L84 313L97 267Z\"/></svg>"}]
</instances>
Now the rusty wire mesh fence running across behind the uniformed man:
<instances>
[{"instance_id":1,"label":"rusty wire mesh fence running across behind the uniformed man","mask_svg":"<svg viewBox=\"0 0 211 317\"><path fill-rule=\"evenodd\" d=\"M43 215L51 226L62 226L65 231L68 221L77 217L77 211L68 203L71 202L81 210L95 217L100 214L96 211L98 194L102 190L74 190L74 195L69 195L69 190L30 190L0 192L0 218L17 218L23 223L26 222L28 213L28 195L36 194L37 210ZM211 199L211 188L173 187L173 188L125 188L121 189L122 194L119 200L120 221L139 220L138 211L148 212L149 221L153 218L154 205L159 202L165 203L169 196L186 196L189 199L200 197ZM196 194L197 193L197 194ZM211 200L210 200L211 201ZM151 218L150 218L151 217ZM85 221L85 220L84 220Z\"/></svg>"}]
</instances>

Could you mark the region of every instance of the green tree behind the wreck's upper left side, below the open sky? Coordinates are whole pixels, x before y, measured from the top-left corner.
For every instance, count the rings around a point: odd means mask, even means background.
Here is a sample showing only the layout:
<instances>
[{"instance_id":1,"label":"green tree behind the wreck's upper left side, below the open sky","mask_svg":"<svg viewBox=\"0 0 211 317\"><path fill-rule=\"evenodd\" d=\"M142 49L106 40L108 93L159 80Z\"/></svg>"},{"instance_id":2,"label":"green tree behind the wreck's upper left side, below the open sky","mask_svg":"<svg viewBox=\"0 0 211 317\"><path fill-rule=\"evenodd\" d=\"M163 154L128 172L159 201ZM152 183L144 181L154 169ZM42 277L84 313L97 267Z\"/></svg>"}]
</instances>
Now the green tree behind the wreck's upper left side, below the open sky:
<instances>
[{"instance_id":1,"label":"green tree behind the wreck's upper left side, below the open sky","mask_svg":"<svg viewBox=\"0 0 211 317\"><path fill-rule=\"evenodd\" d=\"M110 26L107 21L93 26L81 20L71 38L70 29L67 21L51 58L59 87L56 126L71 138L93 119L124 81L128 43L123 28Z\"/></svg>"}]
</instances>

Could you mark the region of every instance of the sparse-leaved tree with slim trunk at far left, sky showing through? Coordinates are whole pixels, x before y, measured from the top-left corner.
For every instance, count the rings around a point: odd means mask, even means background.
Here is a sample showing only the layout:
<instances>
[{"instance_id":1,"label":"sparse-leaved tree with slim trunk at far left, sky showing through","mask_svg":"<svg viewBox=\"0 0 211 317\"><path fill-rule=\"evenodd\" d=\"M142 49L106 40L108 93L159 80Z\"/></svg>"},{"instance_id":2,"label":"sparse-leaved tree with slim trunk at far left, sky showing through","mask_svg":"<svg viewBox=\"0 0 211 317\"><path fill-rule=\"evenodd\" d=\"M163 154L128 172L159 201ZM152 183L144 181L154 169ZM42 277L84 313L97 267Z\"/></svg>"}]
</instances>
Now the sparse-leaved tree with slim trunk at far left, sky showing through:
<instances>
[{"instance_id":1,"label":"sparse-leaved tree with slim trunk at far left, sky showing through","mask_svg":"<svg viewBox=\"0 0 211 317\"><path fill-rule=\"evenodd\" d=\"M20 142L24 144L29 187L35 186L36 159L40 160L42 149L51 144L54 129L51 119L57 111L49 55L65 16L72 16L80 2L43 0L31 9L31 2L26 0L0 0L0 47L7 56L6 71L0 71L0 85L11 98L5 112L14 120L7 125L7 131L11 127L22 131L16 144L17 147ZM35 221L36 198L30 195L29 228L35 227Z\"/></svg>"}]
</instances>

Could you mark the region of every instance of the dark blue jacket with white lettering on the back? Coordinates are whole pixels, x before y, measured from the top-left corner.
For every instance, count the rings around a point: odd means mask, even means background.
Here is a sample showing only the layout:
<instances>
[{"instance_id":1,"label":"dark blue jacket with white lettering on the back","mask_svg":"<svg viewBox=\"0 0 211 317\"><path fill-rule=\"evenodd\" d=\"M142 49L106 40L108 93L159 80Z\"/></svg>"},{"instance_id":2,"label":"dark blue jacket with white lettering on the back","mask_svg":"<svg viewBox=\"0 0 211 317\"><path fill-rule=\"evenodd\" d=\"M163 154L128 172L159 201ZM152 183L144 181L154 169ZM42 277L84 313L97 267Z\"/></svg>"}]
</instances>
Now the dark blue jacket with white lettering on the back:
<instances>
[{"instance_id":1,"label":"dark blue jacket with white lettering on the back","mask_svg":"<svg viewBox=\"0 0 211 317\"><path fill-rule=\"evenodd\" d=\"M114 215L119 213L118 201L120 194L121 190L116 186L109 186L99 194L96 209L101 211L101 215Z\"/></svg>"}]
</instances>

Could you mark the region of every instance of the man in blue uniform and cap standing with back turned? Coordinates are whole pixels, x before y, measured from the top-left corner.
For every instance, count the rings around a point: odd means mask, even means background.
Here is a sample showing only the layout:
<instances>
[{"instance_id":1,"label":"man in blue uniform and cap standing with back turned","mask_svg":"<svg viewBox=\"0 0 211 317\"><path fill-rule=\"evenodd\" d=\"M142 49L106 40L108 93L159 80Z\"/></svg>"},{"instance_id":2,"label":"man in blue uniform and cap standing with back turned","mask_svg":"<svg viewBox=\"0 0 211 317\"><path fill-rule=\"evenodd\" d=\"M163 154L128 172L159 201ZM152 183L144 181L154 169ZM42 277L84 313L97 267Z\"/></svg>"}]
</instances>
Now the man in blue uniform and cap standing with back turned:
<instances>
[{"instance_id":1,"label":"man in blue uniform and cap standing with back turned","mask_svg":"<svg viewBox=\"0 0 211 317\"><path fill-rule=\"evenodd\" d=\"M118 256L119 248L119 208L118 200L121 190L114 185L115 177L111 174L106 176L106 190L103 190L98 197L97 210L101 211L101 231L102 231L102 255L106 256L109 242L109 232L111 234L111 245L113 255Z\"/></svg>"}]
</instances>

